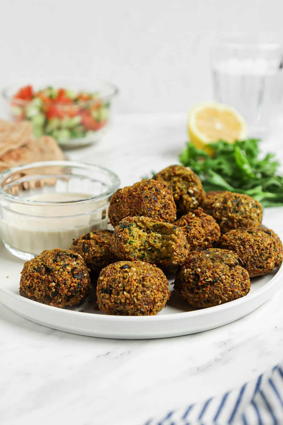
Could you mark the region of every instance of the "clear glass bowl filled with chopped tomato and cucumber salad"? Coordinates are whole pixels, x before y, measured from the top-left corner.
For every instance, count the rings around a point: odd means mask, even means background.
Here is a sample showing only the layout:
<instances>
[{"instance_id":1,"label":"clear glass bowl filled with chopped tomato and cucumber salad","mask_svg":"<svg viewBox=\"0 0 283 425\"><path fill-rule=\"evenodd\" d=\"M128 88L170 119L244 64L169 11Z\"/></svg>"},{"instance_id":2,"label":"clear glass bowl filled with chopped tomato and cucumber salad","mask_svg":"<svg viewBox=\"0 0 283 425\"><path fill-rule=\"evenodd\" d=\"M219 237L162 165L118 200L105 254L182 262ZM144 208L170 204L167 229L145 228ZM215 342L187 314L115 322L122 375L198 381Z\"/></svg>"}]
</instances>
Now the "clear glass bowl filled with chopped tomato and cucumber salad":
<instances>
[{"instance_id":1,"label":"clear glass bowl filled with chopped tomato and cucumber salad","mask_svg":"<svg viewBox=\"0 0 283 425\"><path fill-rule=\"evenodd\" d=\"M9 85L2 90L16 122L30 121L36 138L52 136L62 147L98 142L106 132L115 85L98 81L93 89L83 82L44 82Z\"/></svg>"}]
</instances>

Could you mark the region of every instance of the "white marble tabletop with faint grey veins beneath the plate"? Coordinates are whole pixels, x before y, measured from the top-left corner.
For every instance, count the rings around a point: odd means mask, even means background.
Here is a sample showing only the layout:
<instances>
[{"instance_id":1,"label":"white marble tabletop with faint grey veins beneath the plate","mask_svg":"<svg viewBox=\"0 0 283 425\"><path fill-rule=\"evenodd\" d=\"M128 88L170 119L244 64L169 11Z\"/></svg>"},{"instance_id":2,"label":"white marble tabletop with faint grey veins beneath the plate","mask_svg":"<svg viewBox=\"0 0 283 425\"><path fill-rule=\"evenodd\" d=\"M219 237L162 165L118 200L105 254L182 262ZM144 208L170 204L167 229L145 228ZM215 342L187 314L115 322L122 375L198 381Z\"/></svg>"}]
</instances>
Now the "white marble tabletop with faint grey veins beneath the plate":
<instances>
[{"instance_id":1,"label":"white marble tabletop with faint grey veins beneath the plate","mask_svg":"<svg viewBox=\"0 0 283 425\"><path fill-rule=\"evenodd\" d=\"M72 159L112 168L122 185L176 163L185 116L116 117L94 147ZM263 143L283 160L280 133ZM282 208L264 221L283 236ZM32 323L0 303L0 423L142 424L252 379L283 357L283 290L219 329L163 340L106 340Z\"/></svg>"}]
</instances>

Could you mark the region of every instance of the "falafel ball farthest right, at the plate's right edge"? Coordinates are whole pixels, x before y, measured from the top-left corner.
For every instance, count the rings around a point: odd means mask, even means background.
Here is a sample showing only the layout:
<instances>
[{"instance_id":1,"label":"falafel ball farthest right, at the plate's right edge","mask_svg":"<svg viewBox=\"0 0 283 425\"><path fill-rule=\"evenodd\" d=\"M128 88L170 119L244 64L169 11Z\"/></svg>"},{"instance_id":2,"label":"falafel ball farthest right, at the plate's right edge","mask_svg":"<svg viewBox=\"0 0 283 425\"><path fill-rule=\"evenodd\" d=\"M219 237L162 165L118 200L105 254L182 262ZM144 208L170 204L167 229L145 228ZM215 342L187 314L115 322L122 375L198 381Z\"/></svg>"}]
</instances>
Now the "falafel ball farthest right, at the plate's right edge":
<instances>
[{"instance_id":1,"label":"falafel ball farthest right, at the plate's right edge","mask_svg":"<svg viewBox=\"0 0 283 425\"><path fill-rule=\"evenodd\" d=\"M282 242L269 229L230 230L221 236L219 246L241 258L250 278L272 272L283 259Z\"/></svg>"}]
</instances>

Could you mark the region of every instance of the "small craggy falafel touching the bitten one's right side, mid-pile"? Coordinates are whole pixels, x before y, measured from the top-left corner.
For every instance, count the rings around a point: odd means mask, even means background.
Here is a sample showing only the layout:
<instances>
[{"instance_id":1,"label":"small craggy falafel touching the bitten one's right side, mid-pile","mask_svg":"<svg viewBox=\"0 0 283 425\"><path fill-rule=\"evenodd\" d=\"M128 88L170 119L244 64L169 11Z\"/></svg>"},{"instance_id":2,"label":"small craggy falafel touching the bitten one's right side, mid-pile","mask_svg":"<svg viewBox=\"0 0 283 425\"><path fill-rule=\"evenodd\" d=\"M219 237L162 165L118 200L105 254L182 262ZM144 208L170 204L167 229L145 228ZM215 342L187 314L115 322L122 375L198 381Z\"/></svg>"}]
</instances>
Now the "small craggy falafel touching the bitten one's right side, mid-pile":
<instances>
[{"instance_id":1,"label":"small craggy falafel touching the bitten one's right side, mid-pile","mask_svg":"<svg viewBox=\"0 0 283 425\"><path fill-rule=\"evenodd\" d=\"M211 248L220 238L219 225L211 215L205 214L202 208L188 212L174 224L182 229L191 251Z\"/></svg>"}]
</instances>

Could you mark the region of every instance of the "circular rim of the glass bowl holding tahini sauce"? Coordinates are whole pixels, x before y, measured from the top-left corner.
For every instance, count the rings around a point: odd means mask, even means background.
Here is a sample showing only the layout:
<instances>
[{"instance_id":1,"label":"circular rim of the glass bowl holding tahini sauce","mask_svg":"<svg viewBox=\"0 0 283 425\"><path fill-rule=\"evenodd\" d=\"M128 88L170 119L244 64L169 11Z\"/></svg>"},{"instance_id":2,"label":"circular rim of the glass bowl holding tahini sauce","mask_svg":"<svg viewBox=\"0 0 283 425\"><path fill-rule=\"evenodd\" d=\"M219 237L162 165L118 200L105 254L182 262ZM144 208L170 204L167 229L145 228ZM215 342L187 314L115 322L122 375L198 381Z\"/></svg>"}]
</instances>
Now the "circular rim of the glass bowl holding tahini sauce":
<instances>
[{"instance_id":1,"label":"circular rim of the glass bowl holding tahini sauce","mask_svg":"<svg viewBox=\"0 0 283 425\"><path fill-rule=\"evenodd\" d=\"M83 199L78 198L77 200L73 200L73 201L33 201L31 199L22 199L22 198L18 198L17 196L6 193L1 187L2 182L6 178L8 178L9 175L11 175L12 173L18 173L30 168L54 167L54 166L98 170L110 177L112 185L108 190L105 190L100 195L94 195L89 198L83 198ZM46 178L48 178L48 176L50 177L51 175L46 174ZM86 178L88 177L86 176ZM78 161L37 161L37 162L31 162L29 164L18 165L17 167L11 167L0 173L0 200L2 199L6 201L16 202L18 204L23 204L23 205L38 205L38 206L44 206L44 205L49 205L49 206L61 205L62 206L62 205L70 205L70 204L77 205L77 204L83 204L83 203L88 204L92 201L99 201L109 195L112 195L112 193L118 190L118 188L120 187L120 183L121 181L118 174L114 173L108 168L101 167L100 165L94 165L94 164L89 164L86 162L78 162Z\"/></svg>"}]
</instances>

